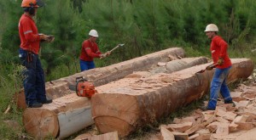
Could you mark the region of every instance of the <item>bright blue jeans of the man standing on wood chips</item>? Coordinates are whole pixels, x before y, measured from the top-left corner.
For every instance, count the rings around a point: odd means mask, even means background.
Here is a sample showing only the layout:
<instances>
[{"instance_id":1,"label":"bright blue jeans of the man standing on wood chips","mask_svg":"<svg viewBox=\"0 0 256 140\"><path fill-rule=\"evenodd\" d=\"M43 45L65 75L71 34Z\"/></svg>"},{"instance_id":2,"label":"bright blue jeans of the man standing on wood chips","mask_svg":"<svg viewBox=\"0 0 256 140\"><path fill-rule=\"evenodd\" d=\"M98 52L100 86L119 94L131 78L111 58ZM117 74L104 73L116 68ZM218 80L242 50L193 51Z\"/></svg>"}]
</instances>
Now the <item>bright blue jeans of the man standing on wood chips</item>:
<instances>
[{"instance_id":1,"label":"bright blue jeans of the man standing on wood chips","mask_svg":"<svg viewBox=\"0 0 256 140\"><path fill-rule=\"evenodd\" d=\"M208 109L216 108L218 92L221 93L225 103L232 101L232 98L230 97L229 87L226 84L226 79L229 74L230 68L231 66L225 69L215 69L210 87L210 101L207 106Z\"/></svg>"}]
</instances>

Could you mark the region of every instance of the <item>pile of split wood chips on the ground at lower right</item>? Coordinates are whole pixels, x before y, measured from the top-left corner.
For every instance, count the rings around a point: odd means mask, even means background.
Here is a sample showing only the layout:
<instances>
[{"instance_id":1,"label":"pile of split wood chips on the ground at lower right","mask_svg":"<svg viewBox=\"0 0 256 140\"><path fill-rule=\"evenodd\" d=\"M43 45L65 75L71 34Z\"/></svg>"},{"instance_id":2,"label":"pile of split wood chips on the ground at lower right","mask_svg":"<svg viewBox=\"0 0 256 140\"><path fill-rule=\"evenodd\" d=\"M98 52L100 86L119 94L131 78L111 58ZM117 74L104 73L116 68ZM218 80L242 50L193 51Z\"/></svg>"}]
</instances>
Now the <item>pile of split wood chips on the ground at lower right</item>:
<instances>
[{"instance_id":1,"label":"pile of split wood chips on the ground at lower right","mask_svg":"<svg viewBox=\"0 0 256 140\"><path fill-rule=\"evenodd\" d=\"M188 117L175 118L173 124L160 126L161 139L256 139L256 84L241 84L230 94L236 107L220 99L215 110L197 109Z\"/></svg>"}]
</instances>

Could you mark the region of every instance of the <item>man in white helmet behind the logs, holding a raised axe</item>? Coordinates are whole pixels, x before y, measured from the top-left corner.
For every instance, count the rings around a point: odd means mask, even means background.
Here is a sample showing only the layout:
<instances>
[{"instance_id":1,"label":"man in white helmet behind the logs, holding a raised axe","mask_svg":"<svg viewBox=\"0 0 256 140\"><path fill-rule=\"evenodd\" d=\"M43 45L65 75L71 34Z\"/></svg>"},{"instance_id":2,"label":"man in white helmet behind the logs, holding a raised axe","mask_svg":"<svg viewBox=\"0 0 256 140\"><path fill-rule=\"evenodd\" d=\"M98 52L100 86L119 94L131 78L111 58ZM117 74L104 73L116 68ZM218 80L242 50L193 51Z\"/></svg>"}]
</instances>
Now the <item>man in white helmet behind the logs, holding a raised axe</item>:
<instances>
[{"instance_id":1,"label":"man in white helmet behind the logs, holding a raised axe","mask_svg":"<svg viewBox=\"0 0 256 140\"><path fill-rule=\"evenodd\" d=\"M90 70L95 68L94 58L105 58L110 52L101 53L98 45L96 44L96 39L98 33L96 30L91 30L89 32L89 39L85 40L82 44L81 54L80 54L80 69L81 71Z\"/></svg>"}]
</instances>

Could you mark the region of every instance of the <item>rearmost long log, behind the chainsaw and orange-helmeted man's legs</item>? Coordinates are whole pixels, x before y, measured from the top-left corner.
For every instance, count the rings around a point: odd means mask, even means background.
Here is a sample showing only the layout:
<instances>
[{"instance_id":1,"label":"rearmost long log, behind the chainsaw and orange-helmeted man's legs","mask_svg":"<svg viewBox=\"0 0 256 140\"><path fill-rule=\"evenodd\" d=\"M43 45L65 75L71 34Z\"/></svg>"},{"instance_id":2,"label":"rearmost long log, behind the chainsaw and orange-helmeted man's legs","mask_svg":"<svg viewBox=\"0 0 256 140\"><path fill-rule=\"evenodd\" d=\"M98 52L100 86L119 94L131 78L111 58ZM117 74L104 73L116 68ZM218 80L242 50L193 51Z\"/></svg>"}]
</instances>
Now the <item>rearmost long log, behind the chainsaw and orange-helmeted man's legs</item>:
<instances>
[{"instance_id":1,"label":"rearmost long log, behind the chainsaw and orange-helmeted man's legs","mask_svg":"<svg viewBox=\"0 0 256 140\"><path fill-rule=\"evenodd\" d=\"M84 78L93 82L97 87L107 84L110 81L119 80L120 78L131 74L133 71L148 69L156 65L158 62L168 62L171 60L170 57L172 57L172 59L179 57L183 58L184 55L185 52L183 48L168 48L118 64L112 64L92 70L85 70L83 72L74 74L73 76L67 76L55 81L46 82L46 94L52 99L61 98L62 96L70 94L71 91L68 91L69 86L75 85L76 78L80 76L84 76ZM16 101L18 107L21 109L26 109L25 95L23 90L16 93Z\"/></svg>"}]
</instances>

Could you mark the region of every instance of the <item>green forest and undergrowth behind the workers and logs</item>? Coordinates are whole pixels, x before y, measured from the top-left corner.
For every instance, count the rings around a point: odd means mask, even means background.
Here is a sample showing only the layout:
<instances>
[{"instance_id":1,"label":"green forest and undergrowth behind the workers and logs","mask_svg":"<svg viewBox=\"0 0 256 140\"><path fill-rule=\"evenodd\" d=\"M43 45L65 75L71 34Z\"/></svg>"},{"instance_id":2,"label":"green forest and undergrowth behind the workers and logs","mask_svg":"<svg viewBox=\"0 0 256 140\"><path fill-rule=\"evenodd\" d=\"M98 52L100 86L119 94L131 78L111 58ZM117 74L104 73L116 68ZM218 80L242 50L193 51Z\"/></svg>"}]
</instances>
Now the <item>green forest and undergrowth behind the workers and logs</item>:
<instances>
[{"instance_id":1,"label":"green forest and undergrowth behind the workers and logs","mask_svg":"<svg viewBox=\"0 0 256 140\"><path fill-rule=\"evenodd\" d=\"M82 42L91 29L104 53L119 43L96 67L119 63L166 48L181 47L187 57L210 58L210 40L204 32L210 23L229 45L230 58L256 54L256 2L254 0L44 0L34 18L40 33L54 35L55 42L41 43L39 53L47 81L79 72ZM22 111L13 103L22 88L18 49L21 0L0 1L0 120L17 120ZM11 114L3 115L11 106ZM0 139L19 137L1 123ZM21 129L21 132L24 132Z\"/></svg>"}]
</instances>

